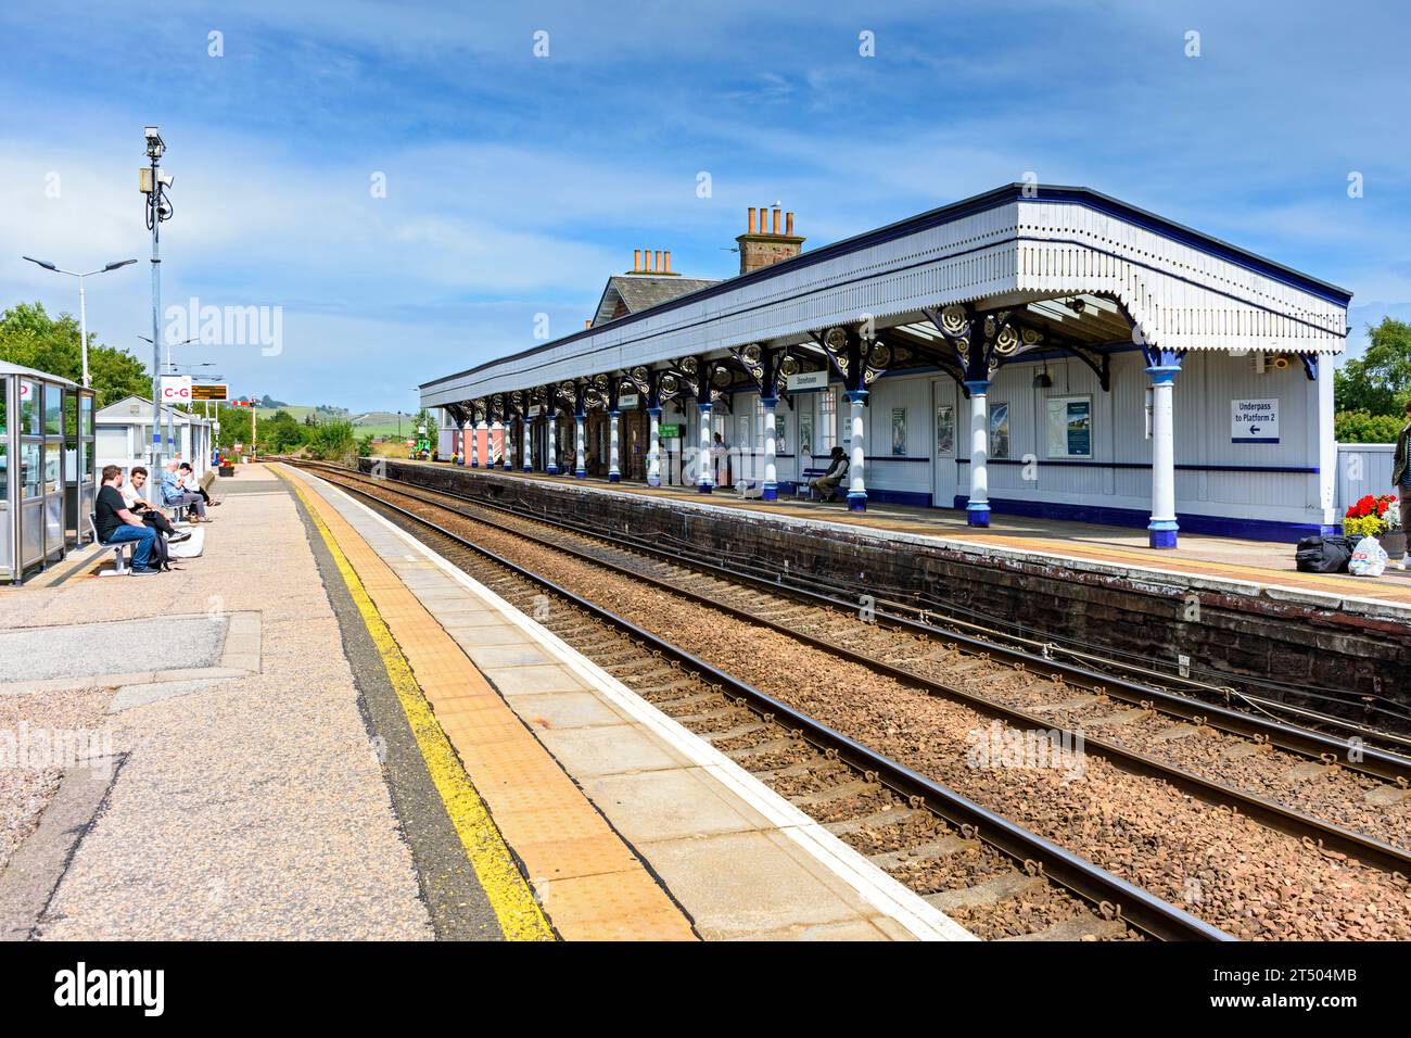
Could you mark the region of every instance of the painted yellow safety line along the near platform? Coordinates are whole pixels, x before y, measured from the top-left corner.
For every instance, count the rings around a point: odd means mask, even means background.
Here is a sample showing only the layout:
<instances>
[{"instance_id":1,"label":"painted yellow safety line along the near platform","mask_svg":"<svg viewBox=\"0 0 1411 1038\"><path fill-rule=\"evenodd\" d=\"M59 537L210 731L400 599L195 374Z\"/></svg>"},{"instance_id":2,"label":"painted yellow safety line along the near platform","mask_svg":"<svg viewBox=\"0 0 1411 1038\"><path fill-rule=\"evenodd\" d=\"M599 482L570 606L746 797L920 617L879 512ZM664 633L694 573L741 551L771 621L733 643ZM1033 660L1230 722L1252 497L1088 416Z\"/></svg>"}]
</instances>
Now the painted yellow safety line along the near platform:
<instances>
[{"instance_id":1,"label":"painted yellow safety line along the near platform","mask_svg":"<svg viewBox=\"0 0 1411 1038\"><path fill-rule=\"evenodd\" d=\"M275 472L279 470L277 469ZM357 603L358 613L363 614L363 623L367 624L368 634L373 636L373 643L377 645L377 651L382 657L382 665L387 668L387 676L396 691L398 700L402 703L402 710L406 713L406 722L411 724L412 734L416 736L416 746L426 761L426 770L436 784L436 791L446 805L446 813L450 815L452 825L456 826L456 835L460 836L460 842L466 847L466 854L470 857L476 876L480 878L480 885L485 891L495 918L499 921L499 931L508 941L553 941L553 929L549 926L543 909L540 909L533 891L515 864L514 856L509 853L509 847L505 845L498 826L490 818L490 812L485 811L480 794L476 792L476 787L471 784L470 775L466 774L466 768L461 767L460 758L446 739L446 733L442 732L436 715L426 702L426 696L422 695L420 685L416 684L416 678L412 675L412 668L408 665L406 657L402 655L396 640L377 612L377 606L368 597L363 582L343 554L343 549L339 548L337 541L333 539L333 534L325 525L323 518L305 496L303 489L284 472L279 472L279 477L289 483L293 493L303 501L309 518L313 520L315 528L319 531L323 544L329 548L329 554L333 555L333 562L343 575L343 582L347 585L353 602Z\"/></svg>"}]
</instances>

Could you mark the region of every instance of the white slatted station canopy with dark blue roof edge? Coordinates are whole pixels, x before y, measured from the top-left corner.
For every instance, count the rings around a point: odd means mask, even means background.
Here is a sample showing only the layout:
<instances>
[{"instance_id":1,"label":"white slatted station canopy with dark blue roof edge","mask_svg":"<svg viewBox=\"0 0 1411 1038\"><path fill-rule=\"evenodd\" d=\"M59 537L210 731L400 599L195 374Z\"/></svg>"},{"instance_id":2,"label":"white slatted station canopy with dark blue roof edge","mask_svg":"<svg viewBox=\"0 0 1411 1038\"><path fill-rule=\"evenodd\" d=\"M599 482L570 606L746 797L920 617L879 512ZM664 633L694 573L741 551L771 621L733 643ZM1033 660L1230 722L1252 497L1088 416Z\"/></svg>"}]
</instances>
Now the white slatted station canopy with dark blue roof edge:
<instances>
[{"instance_id":1,"label":"white slatted station canopy with dark blue roof edge","mask_svg":"<svg viewBox=\"0 0 1411 1038\"><path fill-rule=\"evenodd\" d=\"M1012 184L595 323L420 387L425 407L645 370L713 367L713 388L751 386L751 357L783 347L783 374L828 366L823 333L880 343L880 369L967 377L958 329L1005 325L996 363L1075 356L1108 386L1113 352L1342 352L1352 294L1088 188ZM869 362L871 363L871 362ZM869 378L871 381L871 378Z\"/></svg>"}]
</instances>

